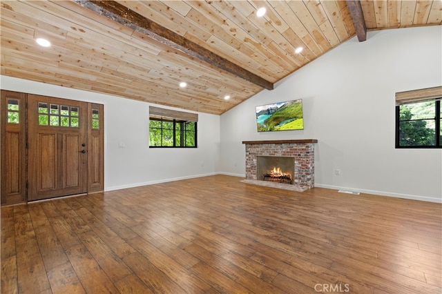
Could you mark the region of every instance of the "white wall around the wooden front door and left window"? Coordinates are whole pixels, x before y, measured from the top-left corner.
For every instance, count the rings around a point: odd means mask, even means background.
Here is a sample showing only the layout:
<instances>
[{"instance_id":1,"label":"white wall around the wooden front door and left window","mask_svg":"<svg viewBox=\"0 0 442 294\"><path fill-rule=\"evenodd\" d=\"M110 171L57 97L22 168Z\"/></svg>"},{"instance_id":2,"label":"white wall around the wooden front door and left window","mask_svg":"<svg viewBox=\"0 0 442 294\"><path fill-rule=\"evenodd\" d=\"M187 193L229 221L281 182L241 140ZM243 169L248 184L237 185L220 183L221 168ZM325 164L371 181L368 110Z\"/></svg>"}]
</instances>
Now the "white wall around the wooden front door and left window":
<instances>
[{"instance_id":1,"label":"white wall around the wooden front door and left window","mask_svg":"<svg viewBox=\"0 0 442 294\"><path fill-rule=\"evenodd\" d=\"M218 115L198 114L198 148L148 148L148 106L153 104L6 76L0 82L3 90L104 104L105 190L213 175L219 170Z\"/></svg>"}]
</instances>

